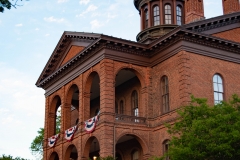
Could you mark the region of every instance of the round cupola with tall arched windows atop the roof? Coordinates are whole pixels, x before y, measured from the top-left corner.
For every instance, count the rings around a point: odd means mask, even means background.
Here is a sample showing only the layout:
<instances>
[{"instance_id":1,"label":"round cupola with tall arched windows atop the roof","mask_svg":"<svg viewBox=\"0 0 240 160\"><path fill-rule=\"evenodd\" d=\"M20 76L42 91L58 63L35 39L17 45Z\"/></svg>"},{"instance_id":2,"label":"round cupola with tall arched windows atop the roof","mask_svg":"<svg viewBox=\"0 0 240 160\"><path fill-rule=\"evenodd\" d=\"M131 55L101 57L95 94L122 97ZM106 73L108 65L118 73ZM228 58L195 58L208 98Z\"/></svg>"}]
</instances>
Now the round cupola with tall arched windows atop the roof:
<instances>
[{"instance_id":1,"label":"round cupola with tall arched windows atop the roof","mask_svg":"<svg viewBox=\"0 0 240 160\"><path fill-rule=\"evenodd\" d=\"M137 41L150 43L185 23L184 0L134 0L141 17Z\"/></svg>"}]
</instances>

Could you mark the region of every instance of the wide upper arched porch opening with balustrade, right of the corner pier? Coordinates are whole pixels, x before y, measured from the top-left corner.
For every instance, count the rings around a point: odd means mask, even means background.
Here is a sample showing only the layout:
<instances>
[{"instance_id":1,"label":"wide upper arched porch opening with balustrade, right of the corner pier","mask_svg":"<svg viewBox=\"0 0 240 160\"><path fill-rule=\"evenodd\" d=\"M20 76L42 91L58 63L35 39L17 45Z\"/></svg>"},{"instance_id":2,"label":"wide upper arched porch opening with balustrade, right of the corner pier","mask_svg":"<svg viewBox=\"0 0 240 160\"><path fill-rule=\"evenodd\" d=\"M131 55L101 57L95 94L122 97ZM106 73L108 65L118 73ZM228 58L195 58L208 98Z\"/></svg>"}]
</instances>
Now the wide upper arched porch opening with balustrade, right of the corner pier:
<instances>
[{"instance_id":1,"label":"wide upper arched porch opening with balustrade, right of the corner pier","mask_svg":"<svg viewBox=\"0 0 240 160\"><path fill-rule=\"evenodd\" d=\"M115 79L115 99L119 100L118 112L115 112L116 120L142 122L136 120L136 117L144 117L143 112L141 112L140 91L141 82L136 71L122 69L118 72Z\"/></svg>"}]
</instances>

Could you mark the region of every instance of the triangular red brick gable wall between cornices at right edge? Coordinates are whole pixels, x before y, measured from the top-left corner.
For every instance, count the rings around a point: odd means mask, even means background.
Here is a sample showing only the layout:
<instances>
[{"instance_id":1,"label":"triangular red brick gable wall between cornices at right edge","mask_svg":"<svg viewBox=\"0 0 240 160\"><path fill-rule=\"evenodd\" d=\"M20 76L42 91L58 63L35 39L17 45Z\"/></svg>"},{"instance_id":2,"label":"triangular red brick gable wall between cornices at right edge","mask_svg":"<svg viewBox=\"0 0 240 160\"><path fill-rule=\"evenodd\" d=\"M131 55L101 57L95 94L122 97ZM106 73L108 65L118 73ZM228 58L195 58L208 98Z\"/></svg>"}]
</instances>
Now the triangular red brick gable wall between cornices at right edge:
<instances>
[{"instance_id":1,"label":"triangular red brick gable wall between cornices at right edge","mask_svg":"<svg viewBox=\"0 0 240 160\"><path fill-rule=\"evenodd\" d=\"M216 33L213 36L240 43L240 28Z\"/></svg>"}]
</instances>

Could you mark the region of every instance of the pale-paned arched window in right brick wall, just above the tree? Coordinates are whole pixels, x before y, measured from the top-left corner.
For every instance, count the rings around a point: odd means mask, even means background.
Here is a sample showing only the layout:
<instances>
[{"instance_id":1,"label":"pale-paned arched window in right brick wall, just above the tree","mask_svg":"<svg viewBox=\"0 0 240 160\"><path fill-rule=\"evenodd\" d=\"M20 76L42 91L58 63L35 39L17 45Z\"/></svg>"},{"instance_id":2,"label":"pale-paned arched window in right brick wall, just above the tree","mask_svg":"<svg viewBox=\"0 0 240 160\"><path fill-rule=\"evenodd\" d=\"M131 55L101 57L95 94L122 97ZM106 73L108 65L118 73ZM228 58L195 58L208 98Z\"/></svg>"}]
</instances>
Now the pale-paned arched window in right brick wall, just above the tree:
<instances>
[{"instance_id":1,"label":"pale-paned arched window in right brick wall, just above the tree","mask_svg":"<svg viewBox=\"0 0 240 160\"><path fill-rule=\"evenodd\" d=\"M214 103L223 101L223 80L219 74L213 76Z\"/></svg>"}]
</instances>

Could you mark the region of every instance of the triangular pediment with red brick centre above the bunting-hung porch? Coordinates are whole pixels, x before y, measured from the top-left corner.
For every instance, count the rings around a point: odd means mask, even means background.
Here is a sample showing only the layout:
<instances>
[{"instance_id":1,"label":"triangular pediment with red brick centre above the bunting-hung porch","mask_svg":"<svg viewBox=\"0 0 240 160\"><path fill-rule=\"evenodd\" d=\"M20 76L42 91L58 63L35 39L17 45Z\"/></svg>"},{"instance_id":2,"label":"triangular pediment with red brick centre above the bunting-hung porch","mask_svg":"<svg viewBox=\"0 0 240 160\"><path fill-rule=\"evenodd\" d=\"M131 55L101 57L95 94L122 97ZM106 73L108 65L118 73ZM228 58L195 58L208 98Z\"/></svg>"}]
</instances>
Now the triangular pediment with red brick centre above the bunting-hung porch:
<instances>
[{"instance_id":1,"label":"triangular pediment with red brick centre above the bunting-hung porch","mask_svg":"<svg viewBox=\"0 0 240 160\"><path fill-rule=\"evenodd\" d=\"M99 39L100 34L64 32L36 84L66 65L71 59Z\"/></svg>"}]
</instances>

